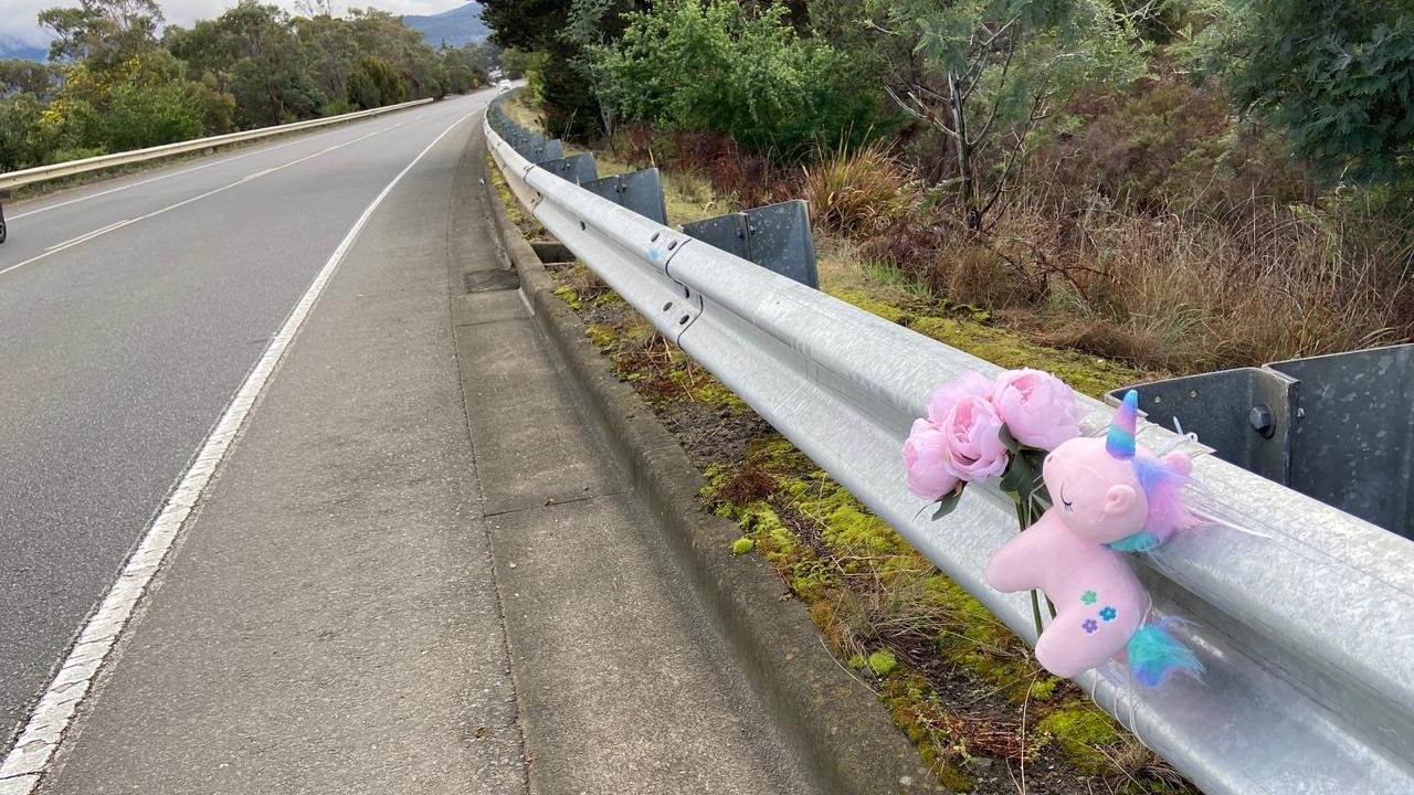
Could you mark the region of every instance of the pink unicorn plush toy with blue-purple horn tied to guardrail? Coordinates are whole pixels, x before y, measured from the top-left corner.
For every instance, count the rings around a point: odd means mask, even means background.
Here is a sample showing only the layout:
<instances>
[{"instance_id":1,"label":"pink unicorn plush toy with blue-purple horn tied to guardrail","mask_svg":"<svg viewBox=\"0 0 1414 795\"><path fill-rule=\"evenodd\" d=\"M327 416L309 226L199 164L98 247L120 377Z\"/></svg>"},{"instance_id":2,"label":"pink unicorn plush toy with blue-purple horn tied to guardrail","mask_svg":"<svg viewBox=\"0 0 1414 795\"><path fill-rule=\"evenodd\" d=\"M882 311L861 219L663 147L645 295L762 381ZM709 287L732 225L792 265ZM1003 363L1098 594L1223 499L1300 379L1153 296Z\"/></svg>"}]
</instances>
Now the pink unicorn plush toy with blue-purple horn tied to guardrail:
<instances>
[{"instance_id":1,"label":"pink unicorn plush toy with blue-purple horn tied to guardrail","mask_svg":"<svg viewBox=\"0 0 1414 795\"><path fill-rule=\"evenodd\" d=\"M1130 390L1106 439L1072 439L1046 455L1042 477L1055 504L987 564L991 587L1041 588L1055 605L1036 659L1056 676L1073 679L1111 658L1151 687L1174 672L1202 672L1167 631L1172 620L1147 622L1148 593L1123 556L1195 523L1182 499L1188 457L1138 450L1137 414L1138 393Z\"/></svg>"}]
</instances>

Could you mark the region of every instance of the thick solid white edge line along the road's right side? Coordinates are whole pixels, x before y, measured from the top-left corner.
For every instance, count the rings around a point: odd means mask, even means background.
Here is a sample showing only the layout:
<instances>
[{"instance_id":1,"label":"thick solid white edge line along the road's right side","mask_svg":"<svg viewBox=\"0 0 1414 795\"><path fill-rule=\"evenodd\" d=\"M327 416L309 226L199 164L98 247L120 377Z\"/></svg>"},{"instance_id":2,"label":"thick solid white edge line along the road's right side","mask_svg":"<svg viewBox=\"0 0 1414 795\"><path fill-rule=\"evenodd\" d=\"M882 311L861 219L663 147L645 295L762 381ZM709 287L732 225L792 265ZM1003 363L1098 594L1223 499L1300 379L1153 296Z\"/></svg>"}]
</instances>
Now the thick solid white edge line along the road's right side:
<instances>
[{"instance_id":1,"label":"thick solid white edge line along the road's right side","mask_svg":"<svg viewBox=\"0 0 1414 795\"><path fill-rule=\"evenodd\" d=\"M201 498L206 485L211 482L211 475L216 471L216 467L225 458L226 451L235 441L236 434L240 433L246 417L250 414L250 409L255 406L256 399L260 398L260 392L264 390L266 382L270 381L271 373L274 373L276 366L279 366L280 359L284 358L284 352L290 348L290 342L294 341L294 335L300 332L300 327L304 325L304 320L310 315L310 310L314 303L320 298L324 287L329 283L334 272L338 269L339 263L344 262L345 255L348 255L349 248L352 248L354 240L358 238L363 226L368 225L369 218L373 212L383 204L387 194L393 191L395 187L409 171L417 166L428 151L433 150L447 133L457 129L458 124L467 119L479 113L472 110L461 119L457 119L440 136L433 139L433 143L427 144L417 157L413 158L393 181L383 188L382 192L373 199L372 204L363 211L363 215L354 222L354 226L339 242L334 253L320 269L320 273L310 283L308 290L300 297L300 303L294 306L290 317L286 318L284 325L280 331L270 340L270 345L260 355L260 361L252 368L250 373L246 375L246 381L236 390L235 398L226 406L226 410L221 414L211 434L201 446L201 451L197 454L197 460L192 461L191 467L182 475L181 481L177 484L177 489L173 495L167 498L163 509L157 513L157 519L143 535L141 543L127 563L123 566L123 573L117 577L117 581L103 597L99 604L98 613L95 613L88 622L83 625L83 631L79 632L79 639L65 658L64 666L54 676L49 687L45 690L44 696L40 699L40 704L34 709L30 720L24 724L24 731L20 733L20 738L16 740L14 747L6 754L4 762L0 764L0 795L30 795L34 787L40 782L40 777L44 775L48 768L49 760L54 758L54 753L58 750L59 743L64 740L64 731L69 727L74 720L74 713L78 710L79 703L83 696L88 695L89 687L93 683L95 676L98 676L99 668L103 661L107 659L109 651L117 641L119 632L127 624L127 620L133 615L133 608L137 607L139 598L141 598L143 591L147 590L153 574L157 571L158 564L167 556L171 549L173 542L177 540L177 535L181 532L182 525L191 515L192 506Z\"/></svg>"}]
</instances>

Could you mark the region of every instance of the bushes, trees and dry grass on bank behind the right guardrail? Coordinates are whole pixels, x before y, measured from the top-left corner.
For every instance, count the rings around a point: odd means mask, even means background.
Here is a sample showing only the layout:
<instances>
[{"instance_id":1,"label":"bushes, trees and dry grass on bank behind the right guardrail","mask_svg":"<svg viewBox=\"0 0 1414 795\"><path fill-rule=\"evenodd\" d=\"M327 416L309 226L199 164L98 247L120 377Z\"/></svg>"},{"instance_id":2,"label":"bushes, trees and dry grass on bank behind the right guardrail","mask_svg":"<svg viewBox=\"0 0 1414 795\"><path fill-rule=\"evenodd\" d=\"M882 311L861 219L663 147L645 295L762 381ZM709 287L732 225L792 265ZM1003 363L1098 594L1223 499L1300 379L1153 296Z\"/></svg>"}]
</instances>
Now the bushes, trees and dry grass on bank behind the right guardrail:
<instances>
[{"instance_id":1,"label":"bushes, trees and dry grass on bank behind the right guardrail","mask_svg":"<svg viewBox=\"0 0 1414 795\"><path fill-rule=\"evenodd\" d=\"M921 301L1159 373L1414 332L1397 0L550 4L486 3L550 132Z\"/></svg>"}]
</instances>

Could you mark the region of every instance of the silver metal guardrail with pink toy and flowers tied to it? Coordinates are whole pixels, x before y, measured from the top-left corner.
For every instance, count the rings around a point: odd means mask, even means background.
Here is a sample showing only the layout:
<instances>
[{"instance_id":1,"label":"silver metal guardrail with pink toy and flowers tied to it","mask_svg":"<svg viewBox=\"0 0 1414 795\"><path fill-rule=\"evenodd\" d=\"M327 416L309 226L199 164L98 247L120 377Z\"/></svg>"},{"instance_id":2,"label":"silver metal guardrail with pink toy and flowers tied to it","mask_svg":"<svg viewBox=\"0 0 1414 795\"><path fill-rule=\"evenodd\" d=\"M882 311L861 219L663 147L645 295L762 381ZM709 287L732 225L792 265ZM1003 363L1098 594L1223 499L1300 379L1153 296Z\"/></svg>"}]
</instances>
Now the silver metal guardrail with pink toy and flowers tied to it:
<instances>
[{"instance_id":1,"label":"silver metal guardrail with pink toy and flowers tied to it","mask_svg":"<svg viewBox=\"0 0 1414 795\"><path fill-rule=\"evenodd\" d=\"M1035 642L1027 594L983 580L1017 532L1008 498L969 488L932 522L899 458L937 383L1000 368L537 168L489 116L485 132L512 192L550 233ZM1103 429L1113 410L1080 400L1083 429ZM1148 447L1171 439L1141 423ZM1135 563L1155 614L1191 621L1203 680L1145 690L1109 663L1079 685L1209 794L1414 792L1414 543L1213 455L1193 477L1208 492L1196 506L1241 529L1208 525Z\"/></svg>"}]
</instances>

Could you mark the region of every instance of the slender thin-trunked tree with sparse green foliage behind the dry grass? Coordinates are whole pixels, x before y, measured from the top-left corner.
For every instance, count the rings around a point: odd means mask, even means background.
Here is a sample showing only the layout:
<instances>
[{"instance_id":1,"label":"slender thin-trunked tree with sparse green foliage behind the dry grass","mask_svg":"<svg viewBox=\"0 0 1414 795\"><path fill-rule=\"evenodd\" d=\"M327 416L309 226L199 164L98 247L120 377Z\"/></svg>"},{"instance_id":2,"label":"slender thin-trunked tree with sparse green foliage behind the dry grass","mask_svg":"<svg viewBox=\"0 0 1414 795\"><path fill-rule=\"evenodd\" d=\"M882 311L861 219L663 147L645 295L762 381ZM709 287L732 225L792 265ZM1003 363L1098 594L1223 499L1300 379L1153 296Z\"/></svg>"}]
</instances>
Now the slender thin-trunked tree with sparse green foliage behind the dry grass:
<instances>
[{"instance_id":1,"label":"slender thin-trunked tree with sparse green foliage behind the dry grass","mask_svg":"<svg viewBox=\"0 0 1414 795\"><path fill-rule=\"evenodd\" d=\"M952 143L967 225L981 229L1048 122L1077 92L1143 74L1130 17L1107 0L867 0L865 27L908 47L885 89Z\"/></svg>"}]
</instances>

